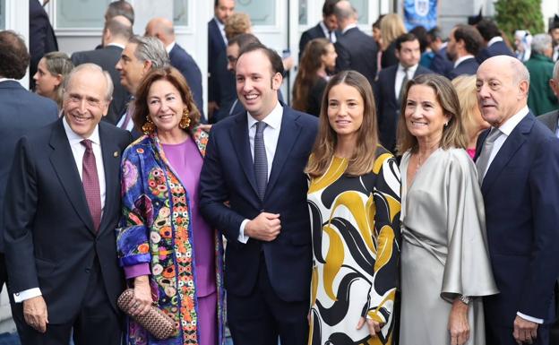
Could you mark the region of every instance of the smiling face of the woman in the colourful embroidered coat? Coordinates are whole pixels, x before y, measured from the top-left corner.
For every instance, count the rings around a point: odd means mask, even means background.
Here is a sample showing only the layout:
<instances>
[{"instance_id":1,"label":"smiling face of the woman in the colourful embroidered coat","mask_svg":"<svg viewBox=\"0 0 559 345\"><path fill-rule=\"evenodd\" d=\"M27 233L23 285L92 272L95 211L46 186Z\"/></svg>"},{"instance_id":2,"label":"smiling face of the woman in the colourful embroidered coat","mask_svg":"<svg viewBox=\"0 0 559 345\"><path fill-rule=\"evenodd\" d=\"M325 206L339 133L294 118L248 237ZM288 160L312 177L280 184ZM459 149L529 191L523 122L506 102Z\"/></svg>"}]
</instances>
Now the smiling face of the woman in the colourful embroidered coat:
<instances>
[{"instance_id":1,"label":"smiling face of the woman in the colourful embroidered coat","mask_svg":"<svg viewBox=\"0 0 559 345\"><path fill-rule=\"evenodd\" d=\"M151 121L159 134L174 134L182 131L178 124L186 108L180 92L166 81L153 82L148 92L148 108Z\"/></svg>"}]
</instances>

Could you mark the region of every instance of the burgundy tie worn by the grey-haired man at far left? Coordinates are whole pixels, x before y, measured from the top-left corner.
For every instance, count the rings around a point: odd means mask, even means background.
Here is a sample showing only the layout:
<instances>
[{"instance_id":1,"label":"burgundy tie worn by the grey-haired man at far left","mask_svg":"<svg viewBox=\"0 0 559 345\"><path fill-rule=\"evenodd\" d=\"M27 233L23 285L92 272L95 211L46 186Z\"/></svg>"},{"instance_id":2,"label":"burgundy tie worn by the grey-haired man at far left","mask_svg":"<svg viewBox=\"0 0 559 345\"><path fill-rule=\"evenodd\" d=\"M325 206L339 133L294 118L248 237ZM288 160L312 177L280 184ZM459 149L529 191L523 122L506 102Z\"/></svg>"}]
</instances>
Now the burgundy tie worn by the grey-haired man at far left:
<instances>
[{"instance_id":1,"label":"burgundy tie worn by the grey-haired man at far left","mask_svg":"<svg viewBox=\"0 0 559 345\"><path fill-rule=\"evenodd\" d=\"M82 140L82 145L85 146L82 163L83 191L85 192L85 198L90 207L93 227L98 231L99 224L101 223L101 193L99 191L97 164L95 163L95 154L93 154L93 150L91 149L91 141L89 139Z\"/></svg>"}]
</instances>

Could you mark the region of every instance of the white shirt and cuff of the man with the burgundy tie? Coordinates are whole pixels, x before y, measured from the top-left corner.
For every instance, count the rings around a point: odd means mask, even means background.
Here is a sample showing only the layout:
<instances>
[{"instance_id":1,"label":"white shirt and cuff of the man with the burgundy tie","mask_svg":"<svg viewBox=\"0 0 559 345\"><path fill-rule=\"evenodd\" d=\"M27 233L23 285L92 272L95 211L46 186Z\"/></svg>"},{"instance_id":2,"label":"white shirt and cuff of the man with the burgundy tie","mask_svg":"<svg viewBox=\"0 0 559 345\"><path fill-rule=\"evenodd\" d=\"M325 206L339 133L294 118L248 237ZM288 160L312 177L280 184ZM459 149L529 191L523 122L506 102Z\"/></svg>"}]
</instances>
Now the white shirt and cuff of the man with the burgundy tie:
<instances>
[{"instance_id":1,"label":"white shirt and cuff of the man with the burgundy tie","mask_svg":"<svg viewBox=\"0 0 559 345\"><path fill-rule=\"evenodd\" d=\"M78 168L78 173L80 174L80 179L82 179L82 169L83 169L83 154L85 153L85 146L82 145L83 138L75 134L70 128L70 125L66 122L66 118L62 120L64 125L64 132L70 142L70 149L72 149L73 161ZM91 149L95 155L95 165L97 166L97 175L99 177L99 194L101 195L101 217L103 211L105 210L105 195L107 194L107 185L105 183L105 166L103 165L103 153L101 152L101 142L99 140L99 125L95 126L93 133L88 138L91 141ZM13 300L15 303L21 303L26 299L35 298L41 296L42 293L39 288L26 289L13 294Z\"/></svg>"}]
</instances>

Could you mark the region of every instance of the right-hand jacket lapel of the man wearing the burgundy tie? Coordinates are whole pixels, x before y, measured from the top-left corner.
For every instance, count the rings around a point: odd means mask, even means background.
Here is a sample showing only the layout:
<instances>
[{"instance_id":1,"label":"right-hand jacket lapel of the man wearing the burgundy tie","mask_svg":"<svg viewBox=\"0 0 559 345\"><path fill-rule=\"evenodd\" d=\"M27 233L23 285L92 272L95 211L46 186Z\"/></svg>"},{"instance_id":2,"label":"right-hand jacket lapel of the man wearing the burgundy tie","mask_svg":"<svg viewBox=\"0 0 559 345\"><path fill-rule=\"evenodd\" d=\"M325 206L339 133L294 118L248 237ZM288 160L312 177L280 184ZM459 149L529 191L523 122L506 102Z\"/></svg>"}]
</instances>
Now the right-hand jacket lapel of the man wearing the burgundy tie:
<instances>
[{"instance_id":1,"label":"right-hand jacket lapel of the man wearing the burgundy tie","mask_svg":"<svg viewBox=\"0 0 559 345\"><path fill-rule=\"evenodd\" d=\"M107 221L110 220L111 214L107 210L114 210L115 207L119 207L115 204L116 200L112 191L114 191L114 188L120 190L120 148L101 123L99 123L99 141L101 142L101 154L103 155L103 168L105 170L105 208L103 209L98 235L103 229L107 228Z\"/></svg>"}]
</instances>

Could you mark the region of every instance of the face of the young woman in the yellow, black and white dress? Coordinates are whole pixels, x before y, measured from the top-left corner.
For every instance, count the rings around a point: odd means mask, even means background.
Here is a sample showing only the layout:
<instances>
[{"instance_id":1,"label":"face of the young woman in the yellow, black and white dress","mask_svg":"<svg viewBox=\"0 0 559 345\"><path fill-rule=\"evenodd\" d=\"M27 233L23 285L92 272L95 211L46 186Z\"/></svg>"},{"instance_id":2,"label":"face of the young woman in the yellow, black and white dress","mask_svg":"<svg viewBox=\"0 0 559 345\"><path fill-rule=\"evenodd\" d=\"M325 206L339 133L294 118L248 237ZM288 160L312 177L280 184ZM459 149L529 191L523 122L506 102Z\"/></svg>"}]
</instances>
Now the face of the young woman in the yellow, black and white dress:
<instances>
[{"instance_id":1,"label":"face of the young woman in the yellow, black and white dress","mask_svg":"<svg viewBox=\"0 0 559 345\"><path fill-rule=\"evenodd\" d=\"M365 101L353 86L340 83L328 92L328 122L338 138L350 137L357 142L364 110Z\"/></svg>"}]
</instances>

